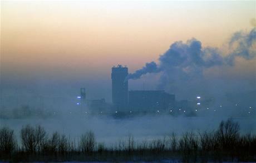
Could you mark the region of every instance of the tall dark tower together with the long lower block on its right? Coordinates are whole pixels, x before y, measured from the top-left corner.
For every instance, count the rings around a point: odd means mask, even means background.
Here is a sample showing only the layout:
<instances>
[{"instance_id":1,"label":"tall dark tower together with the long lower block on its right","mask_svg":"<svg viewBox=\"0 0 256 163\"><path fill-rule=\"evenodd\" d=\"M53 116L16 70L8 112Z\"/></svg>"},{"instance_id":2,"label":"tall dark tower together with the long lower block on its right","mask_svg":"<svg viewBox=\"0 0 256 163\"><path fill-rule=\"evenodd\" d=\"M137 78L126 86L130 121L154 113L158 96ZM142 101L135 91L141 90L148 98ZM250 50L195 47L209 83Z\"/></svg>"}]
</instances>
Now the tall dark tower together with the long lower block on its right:
<instances>
[{"instance_id":1,"label":"tall dark tower together with the long lower block on its right","mask_svg":"<svg viewBox=\"0 0 256 163\"><path fill-rule=\"evenodd\" d=\"M112 67L112 103L119 111L166 110L175 104L175 95L164 90L132 90L128 92L128 68ZM128 110L127 110L128 109Z\"/></svg>"}]
</instances>

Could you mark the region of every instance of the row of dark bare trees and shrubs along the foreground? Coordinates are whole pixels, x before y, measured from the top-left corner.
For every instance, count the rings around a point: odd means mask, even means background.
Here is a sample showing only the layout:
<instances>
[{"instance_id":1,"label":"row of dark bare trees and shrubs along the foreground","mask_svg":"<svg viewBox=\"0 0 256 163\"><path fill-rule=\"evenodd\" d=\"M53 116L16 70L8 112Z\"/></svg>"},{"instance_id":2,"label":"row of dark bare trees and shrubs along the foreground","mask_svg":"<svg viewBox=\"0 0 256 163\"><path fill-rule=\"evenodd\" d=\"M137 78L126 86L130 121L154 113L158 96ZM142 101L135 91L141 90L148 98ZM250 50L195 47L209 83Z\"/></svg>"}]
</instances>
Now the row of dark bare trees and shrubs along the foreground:
<instances>
[{"instance_id":1,"label":"row of dark bare trees and shrubs along the foreground","mask_svg":"<svg viewBox=\"0 0 256 163\"><path fill-rule=\"evenodd\" d=\"M14 131L0 129L0 156L12 156L17 152L30 155L67 155L67 154L121 154L151 155L167 154L181 157L197 156L239 157L244 160L256 155L256 135L240 135L239 124L232 119L221 121L215 131L194 133L186 132L181 136L172 133L163 139L135 142L129 134L127 139L119 139L110 146L97 143L92 131L72 140L57 132L48 135L42 126L23 126L20 131L21 143L18 145ZM3 157L2 157L3 158ZM1 157L0 157L1 159Z\"/></svg>"}]
</instances>

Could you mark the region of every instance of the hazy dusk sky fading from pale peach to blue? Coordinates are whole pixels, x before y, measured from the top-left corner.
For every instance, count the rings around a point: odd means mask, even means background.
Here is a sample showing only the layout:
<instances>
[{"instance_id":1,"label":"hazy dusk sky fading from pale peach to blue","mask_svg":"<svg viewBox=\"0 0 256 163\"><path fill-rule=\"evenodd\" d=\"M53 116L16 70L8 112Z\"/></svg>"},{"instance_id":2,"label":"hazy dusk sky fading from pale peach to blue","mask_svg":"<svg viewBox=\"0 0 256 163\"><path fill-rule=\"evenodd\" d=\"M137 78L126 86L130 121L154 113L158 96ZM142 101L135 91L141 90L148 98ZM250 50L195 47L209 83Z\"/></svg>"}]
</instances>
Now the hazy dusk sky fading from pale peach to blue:
<instances>
[{"instance_id":1,"label":"hazy dusk sky fading from pale peach to blue","mask_svg":"<svg viewBox=\"0 0 256 163\"><path fill-rule=\"evenodd\" d=\"M191 38L202 47L228 50L235 32L255 27L255 3L1 1L2 92L74 95L86 87L90 98L111 101L113 65L127 65L135 72L146 62L158 63L174 42ZM255 59L235 62L225 70L205 70L210 72L206 77L239 77L251 84L239 80L235 86L255 89ZM148 89L157 88L155 75L130 80L129 88L140 89L145 80Z\"/></svg>"}]
</instances>

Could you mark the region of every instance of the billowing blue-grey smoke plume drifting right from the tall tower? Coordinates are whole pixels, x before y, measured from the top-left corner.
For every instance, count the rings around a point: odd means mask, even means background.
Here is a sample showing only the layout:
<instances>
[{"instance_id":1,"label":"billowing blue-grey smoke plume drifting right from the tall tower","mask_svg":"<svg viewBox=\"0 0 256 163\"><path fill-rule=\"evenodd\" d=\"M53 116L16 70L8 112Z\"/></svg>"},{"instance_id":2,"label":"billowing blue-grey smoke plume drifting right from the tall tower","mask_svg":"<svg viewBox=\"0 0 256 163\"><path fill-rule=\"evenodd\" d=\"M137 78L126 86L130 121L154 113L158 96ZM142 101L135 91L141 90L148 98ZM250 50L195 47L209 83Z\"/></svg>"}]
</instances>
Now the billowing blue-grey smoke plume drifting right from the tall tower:
<instances>
[{"instance_id":1,"label":"billowing blue-grey smoke plume drifting right from the tall tower","mask_svg":"<svg viewBox=\"0 0 256 163\"><path fill-rule=\"evenodd\" d=\"M159 57L159 63L146 63L145 67L129 74L127 79L139 79L147 73L159 73L159 88L166 88L172 84L177 86L180 81L186 80L187 86L204 81L204 71L215 67L233 67L236 58L252 60L256 56L255 48L256 28L250 32L236 32L228 44L228 53L223 53L214 47L202 47L199 40L192 38L186 43L174 42L170 48ZM193 80L195 79L195 80ZM183 85L184 86L184 85Z\"/></svg>"}]
</instances>

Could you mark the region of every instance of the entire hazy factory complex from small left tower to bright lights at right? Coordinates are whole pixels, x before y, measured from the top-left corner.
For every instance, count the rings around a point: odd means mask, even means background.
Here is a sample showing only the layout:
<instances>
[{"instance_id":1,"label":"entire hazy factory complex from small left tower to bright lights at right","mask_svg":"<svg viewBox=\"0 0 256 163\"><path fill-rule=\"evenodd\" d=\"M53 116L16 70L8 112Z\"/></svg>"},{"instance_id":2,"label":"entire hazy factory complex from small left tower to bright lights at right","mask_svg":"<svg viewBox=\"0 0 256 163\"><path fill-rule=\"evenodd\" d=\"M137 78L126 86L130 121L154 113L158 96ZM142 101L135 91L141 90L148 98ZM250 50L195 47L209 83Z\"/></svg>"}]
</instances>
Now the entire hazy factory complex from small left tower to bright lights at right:
<instances>
[{"instance_id":1,"label":"entire hazy factory complex from small left tower to bright lights at right","mask_svg":"<svg viewBox=\"0 0 256 163\"><path fill-rule=\"evenodd\" d=\"M164 90L128 90L127 78L128 68L117 65L111 69L112 79L112 104L105 99L86 99L85 88L80 89L80 100L77 105L86 113L91 114L111 114L117 115L139 115L140 113L169 113L187 116L194 116L195 112L201 108L208 108L212 105L213 99L202 100L201 96L196 96L195 101L176 101L174 94L166 93ZM221 105L220 105L221 107Z\"/></svg>"}]
</instances>

